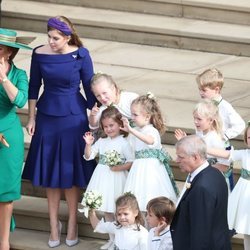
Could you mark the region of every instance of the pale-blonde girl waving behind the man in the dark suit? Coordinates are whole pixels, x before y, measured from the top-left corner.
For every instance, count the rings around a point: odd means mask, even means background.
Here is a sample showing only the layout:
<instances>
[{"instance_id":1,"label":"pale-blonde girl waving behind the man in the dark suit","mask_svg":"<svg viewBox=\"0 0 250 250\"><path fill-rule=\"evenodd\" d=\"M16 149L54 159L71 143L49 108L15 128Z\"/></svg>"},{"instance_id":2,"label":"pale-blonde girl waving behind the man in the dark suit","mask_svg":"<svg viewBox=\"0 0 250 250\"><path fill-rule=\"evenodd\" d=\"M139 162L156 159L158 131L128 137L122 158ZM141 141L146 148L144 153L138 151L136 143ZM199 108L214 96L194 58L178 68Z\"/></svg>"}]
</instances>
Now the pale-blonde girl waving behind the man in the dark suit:
<instances>
[{"instance_id":1,"label":"pale-blonde girl waving behind the man in the dark suit","mask_svg":"<svg viewBox=\"0 0 250 250\"><path fill-rule=\"evenodd\" d=\"M194 124L196 127L196 134L204 139L208 147L216 147L225 149L225 140L222 134L222 122L219 116L218 107L215 103L209 99L200 101L193 111ZM175 131L177 140L186 136L186 133L180 129ZM213 157L207 155L208 161L213 167L218 168L223 172L228 190L230 192L229 176L232 172L230 162L220 157Z\"/></svg>"}]
</instances>

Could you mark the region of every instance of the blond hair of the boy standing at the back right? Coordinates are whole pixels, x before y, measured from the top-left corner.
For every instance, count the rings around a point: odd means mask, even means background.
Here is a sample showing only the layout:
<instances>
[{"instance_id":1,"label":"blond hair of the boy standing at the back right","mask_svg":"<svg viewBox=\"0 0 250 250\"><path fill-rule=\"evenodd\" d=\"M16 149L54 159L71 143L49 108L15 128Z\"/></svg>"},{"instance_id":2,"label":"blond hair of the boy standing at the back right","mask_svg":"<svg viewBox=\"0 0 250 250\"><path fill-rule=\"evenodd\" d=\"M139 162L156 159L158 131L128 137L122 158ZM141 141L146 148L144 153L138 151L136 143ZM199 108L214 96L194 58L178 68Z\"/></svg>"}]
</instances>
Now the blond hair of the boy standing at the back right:
<instances>
[{"instance_id":1,"label":"blond hair of the boy standing at the back right","mask_svg":"<svg viewBox=\"0 0 250 250\"><path fill-rule=\"evenodd\" d=\"M219 87L221 90L224 84L224 77L216 68L206 69L196 77L196 82L200 88L215 89Z\"/></svg>"}]
</instances>

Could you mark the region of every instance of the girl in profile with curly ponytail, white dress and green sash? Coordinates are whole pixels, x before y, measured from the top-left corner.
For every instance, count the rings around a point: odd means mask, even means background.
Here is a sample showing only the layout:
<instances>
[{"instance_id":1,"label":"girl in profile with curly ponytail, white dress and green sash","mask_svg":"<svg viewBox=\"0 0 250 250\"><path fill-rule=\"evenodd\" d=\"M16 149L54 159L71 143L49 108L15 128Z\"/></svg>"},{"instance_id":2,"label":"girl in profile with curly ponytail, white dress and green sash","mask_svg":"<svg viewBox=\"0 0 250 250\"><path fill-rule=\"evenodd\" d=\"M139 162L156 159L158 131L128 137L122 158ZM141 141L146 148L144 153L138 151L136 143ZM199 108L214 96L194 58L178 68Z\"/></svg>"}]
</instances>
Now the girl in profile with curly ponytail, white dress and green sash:
<instances>
[{"instance_id":1,"label":"girl in profile with curly ponytail, white dress and green sash","mask_svg":"<svg viewBox=\"0 0 250 250\"><path fill-rule=\"evenodd\" d=\"M122 128L133 135L135 160L129 171L124 192L132 192L140 210L146 212L149 200L166 196L176 201L178 189L168 165L170 156L162 150L160 132L165 132L158 103L152 94L136 98L131 105L133 128L123 118Z\"/></svg>"}]
</instances>

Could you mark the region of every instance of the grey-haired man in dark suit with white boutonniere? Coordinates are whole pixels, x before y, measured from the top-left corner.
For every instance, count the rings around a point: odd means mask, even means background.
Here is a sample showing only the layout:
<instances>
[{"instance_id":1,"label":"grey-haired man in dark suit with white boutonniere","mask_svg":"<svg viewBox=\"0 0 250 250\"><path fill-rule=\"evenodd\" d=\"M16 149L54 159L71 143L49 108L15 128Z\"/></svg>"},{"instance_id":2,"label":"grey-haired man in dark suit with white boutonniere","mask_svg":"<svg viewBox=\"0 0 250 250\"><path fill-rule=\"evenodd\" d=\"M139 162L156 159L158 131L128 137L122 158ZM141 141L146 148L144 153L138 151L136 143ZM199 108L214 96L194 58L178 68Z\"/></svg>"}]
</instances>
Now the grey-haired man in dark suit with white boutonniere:
<instances>
[{"instance_id":1,"label":"grey-haired man in dark suit with white boutonniere","mask_svg":"<svg viewBox=\"0 0 250 250\"><path fill-rule=\"evenodd\" d=\"M222 173L206 160L206 144L196 135L176 144L176 162L188 173L171 224L174 250L230 250L228 191Z\"/></svg>"}]
</instances>

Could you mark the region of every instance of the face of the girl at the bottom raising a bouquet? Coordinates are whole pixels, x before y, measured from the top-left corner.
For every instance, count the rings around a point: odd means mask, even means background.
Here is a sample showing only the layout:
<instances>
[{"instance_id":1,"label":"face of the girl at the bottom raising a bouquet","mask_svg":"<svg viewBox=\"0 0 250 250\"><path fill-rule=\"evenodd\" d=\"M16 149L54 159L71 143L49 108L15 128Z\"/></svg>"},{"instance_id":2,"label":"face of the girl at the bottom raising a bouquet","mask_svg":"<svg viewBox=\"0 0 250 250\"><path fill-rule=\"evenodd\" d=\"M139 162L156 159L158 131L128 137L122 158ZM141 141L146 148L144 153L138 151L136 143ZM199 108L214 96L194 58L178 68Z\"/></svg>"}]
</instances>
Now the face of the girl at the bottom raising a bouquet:
<instances>
[{"instance_id":1,"label":"face of the girl at the bottom raising a bouquet","mask_svg":"<svg viewBox=\"0 0 250 250\"><path fill-rule=\"evenodd\" d=\"M138 211L134 211L130 207L117 208L116 219L122 226L129 226L135 223Z\"/></svg>"}]
</instances>

